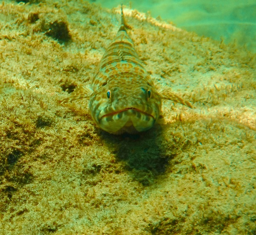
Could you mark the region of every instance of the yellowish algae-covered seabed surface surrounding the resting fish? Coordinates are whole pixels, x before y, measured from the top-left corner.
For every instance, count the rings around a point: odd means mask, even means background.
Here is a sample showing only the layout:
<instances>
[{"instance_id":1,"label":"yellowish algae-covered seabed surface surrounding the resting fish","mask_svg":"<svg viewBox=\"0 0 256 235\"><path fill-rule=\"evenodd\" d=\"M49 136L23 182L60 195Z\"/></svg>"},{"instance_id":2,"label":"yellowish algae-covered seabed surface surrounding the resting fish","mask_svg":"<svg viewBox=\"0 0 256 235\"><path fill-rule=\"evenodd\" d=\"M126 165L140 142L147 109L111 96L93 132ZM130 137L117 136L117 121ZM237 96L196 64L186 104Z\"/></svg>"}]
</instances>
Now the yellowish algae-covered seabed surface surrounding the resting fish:
<instances>
[{"instance_id":1,"label":"yellowish algae-covered seabed surface surrounding the resting fish","mask_svg":"<svg viewBox=\"0 0 256 235\"><path fill-rule=\"evenodd\" d=\"M110 135L88 84L119 28L82 1L0 4L0 234L256 234L256 55L125 9L163 101L140 135Z\"/></svg>"}]
</instances>

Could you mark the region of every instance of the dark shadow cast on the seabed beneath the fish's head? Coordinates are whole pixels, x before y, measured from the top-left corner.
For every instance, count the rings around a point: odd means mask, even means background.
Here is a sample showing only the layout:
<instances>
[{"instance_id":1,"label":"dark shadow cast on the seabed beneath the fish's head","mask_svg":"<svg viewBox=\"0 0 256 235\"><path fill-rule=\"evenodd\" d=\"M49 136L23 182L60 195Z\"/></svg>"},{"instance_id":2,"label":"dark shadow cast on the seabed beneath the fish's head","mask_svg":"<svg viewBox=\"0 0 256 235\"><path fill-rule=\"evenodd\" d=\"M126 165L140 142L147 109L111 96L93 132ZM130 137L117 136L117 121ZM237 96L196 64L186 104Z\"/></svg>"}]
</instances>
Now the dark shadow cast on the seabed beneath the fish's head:
<instances>
[{"instance_id":1,"label":"dark shadow cast on the seabed beneath the fish's head","mask_svg":"<svg viewBox=\"0 0 256 235\"><path fill-rule=\"evenodd\" d=\"M160 125L137 135L102 135L116 159L123 163L123 169L131 172L134 180L143 186L151 185L157 175L166 171L169 160L174 158L163 144Z\"/></svg>"}]
</instances>

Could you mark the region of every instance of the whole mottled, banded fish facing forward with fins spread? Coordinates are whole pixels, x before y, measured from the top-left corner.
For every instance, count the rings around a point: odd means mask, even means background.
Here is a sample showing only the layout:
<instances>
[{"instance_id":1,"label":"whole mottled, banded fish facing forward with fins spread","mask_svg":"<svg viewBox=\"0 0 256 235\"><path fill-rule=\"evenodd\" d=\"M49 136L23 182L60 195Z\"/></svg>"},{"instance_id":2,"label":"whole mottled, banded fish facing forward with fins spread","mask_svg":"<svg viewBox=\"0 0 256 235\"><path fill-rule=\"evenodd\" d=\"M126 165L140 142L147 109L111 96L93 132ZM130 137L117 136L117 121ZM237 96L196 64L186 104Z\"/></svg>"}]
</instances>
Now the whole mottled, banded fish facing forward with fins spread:
<instances>
[{"instance_id":1,"label":"whole mottled, banded fish facing forward with fins spread","mask_svg":"<svg viewBox=\"0 0 256 235\"><path fill-rule=\"evenodd\" d=\"M91 87L80 86L64 102L88 96L93 120L109 133L143 132L150 129L160 115L161 97L127 34L122 6L121 27L103 55ZM169 91L163 92L163 98L192 107Z\"/></svg>"}]
</instances>

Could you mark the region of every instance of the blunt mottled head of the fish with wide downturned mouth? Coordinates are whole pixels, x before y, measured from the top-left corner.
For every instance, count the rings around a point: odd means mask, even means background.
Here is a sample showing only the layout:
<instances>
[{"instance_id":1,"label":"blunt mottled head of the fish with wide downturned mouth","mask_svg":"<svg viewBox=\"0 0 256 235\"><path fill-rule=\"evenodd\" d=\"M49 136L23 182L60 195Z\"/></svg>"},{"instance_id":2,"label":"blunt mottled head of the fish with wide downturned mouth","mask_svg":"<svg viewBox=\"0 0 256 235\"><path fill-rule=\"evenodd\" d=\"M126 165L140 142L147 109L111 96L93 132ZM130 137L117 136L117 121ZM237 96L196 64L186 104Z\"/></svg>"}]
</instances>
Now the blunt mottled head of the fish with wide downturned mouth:
<instances>
[{"instance_id":1,"label":"blunt mottled head of the fish with wide downturned mouth","mask_svg":"<svg viewBox=\"0 0 256 235\"><path fill-rule=\"evenodd\" d=\"M112 134L131 134L150 129L158 119L161 98L151 84L116 84L94 92L89 101L97 125Z\"/></svg>"}]
</instances>

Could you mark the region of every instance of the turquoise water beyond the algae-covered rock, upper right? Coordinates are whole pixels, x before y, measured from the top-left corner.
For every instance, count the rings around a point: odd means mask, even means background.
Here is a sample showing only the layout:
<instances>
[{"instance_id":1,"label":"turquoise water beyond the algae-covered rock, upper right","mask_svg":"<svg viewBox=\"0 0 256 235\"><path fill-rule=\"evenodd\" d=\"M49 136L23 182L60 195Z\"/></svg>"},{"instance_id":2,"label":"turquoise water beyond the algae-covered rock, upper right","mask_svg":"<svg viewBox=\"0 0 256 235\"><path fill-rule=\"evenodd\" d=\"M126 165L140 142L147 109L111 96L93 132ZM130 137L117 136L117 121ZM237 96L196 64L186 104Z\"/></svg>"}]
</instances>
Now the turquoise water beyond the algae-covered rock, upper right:
<instances>
[{"instance_id":1,"label":"turquoise water beyond the algae-covered rock, upper right","mask_svg":"<svg viewBox=\"0 0 256 235\"><path fill-rule=\"evenodd\" d=\"M120 3L160 16L178 27L225 43L236 41L256 52L256 0L93 0L103 7Z\"/></svg>"}]
</instances>

